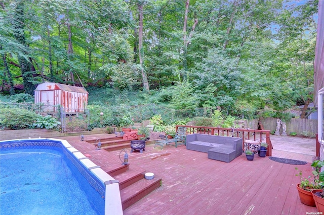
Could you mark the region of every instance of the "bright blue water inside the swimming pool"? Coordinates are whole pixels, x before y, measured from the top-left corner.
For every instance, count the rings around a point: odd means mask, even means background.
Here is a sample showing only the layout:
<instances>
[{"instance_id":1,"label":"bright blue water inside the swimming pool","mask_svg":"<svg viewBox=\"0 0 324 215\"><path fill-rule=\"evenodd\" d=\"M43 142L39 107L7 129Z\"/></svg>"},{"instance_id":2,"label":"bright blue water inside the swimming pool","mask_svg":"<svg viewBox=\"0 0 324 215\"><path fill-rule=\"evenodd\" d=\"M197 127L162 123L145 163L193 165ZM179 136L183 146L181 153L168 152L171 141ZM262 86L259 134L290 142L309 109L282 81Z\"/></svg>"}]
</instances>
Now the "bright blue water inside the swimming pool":
<instances>
[{"instance_id":1,"label":"bright blue water inside the swimming pool","mask_svg":"<svg viewBox=\"0 0 324 215\"><path fill-rule=\"evenodd\" d=\"M66 153L48 146L1 150L0 214L103 214L102 196Z\"/></svg>"}]
</instances>

